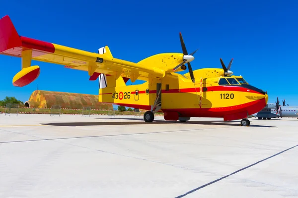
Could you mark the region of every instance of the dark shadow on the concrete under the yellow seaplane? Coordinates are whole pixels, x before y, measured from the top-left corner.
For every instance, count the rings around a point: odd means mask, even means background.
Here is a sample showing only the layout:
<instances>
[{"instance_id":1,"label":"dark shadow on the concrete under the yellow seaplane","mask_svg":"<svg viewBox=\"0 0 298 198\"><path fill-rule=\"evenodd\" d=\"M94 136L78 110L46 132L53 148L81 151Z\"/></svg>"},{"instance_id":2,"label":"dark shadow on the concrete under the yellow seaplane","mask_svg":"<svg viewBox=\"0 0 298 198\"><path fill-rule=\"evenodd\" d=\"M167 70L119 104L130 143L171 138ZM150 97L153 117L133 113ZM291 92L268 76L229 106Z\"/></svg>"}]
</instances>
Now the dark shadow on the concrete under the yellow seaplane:
<instances>
[{"instance_id":1,"label":"dark shadow on the concrete under the yellow seaplane","mask_svg":"<svg viewBox=\"0 0 298 198\"><path fill-rule=\"evenodd\" d=\"M141 118L96 118L96 119L108 119L108 120L140 120L140 121L111 121L111 122L52 122L52 123L40 123L41 125L50 126L108 126L108 125L144 125L144 124L197 124L197 125L222 125L222 126L240 126L240 121L165 121L165 120L154 120L151 123L145 122ZM275 127L275 126L265 126L265 125L255 125L250 124L249 127Z\"/></svg>"}]
</instances>

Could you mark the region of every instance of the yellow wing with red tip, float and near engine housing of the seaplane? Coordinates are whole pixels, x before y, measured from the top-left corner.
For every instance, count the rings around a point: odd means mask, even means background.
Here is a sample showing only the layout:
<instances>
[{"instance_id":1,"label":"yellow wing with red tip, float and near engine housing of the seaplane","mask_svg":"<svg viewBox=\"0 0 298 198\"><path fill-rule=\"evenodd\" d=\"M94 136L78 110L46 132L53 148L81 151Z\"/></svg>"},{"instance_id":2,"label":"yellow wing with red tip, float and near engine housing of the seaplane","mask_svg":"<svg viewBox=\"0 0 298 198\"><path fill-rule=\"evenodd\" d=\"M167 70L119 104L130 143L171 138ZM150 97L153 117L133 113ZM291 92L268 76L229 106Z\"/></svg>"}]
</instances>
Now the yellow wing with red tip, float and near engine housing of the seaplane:
<instances>
[{"instance_id":1,"label":"yellow wing with red tip, float and near engine housing of the seaplane","mask_svg":"<svg viewBox=\"0 0 298 198\"><path fill-rule=\"evenodd\" d=\"M7 15L0 19L0 54L22 58L22 71L13 81L13 83L18 81L15 86L20 87L31 83L39 75L38 66L38 69L28 70L31 59L88 71L89 76L96 72L113 75L115 79L119 76L130 78L132 82L137 79L145 81L152 78L160 79L166 73L173 72L172 68L183 62L183 53L157 54L134 63L114 58L107 46L95 53L19 36ZM175 72L184 69L181 67Z\"/></svg>"}]
</instances>

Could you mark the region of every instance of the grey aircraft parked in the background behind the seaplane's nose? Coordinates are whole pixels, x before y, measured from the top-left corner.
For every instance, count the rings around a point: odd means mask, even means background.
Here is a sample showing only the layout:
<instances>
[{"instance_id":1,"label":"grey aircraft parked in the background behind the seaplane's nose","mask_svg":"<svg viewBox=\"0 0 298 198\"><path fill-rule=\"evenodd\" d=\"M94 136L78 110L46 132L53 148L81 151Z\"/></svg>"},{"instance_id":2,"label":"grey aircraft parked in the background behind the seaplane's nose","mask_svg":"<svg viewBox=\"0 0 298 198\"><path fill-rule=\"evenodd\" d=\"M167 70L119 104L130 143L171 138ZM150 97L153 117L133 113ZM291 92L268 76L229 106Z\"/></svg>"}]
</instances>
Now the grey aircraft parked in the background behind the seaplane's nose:
<instances>
[{"instance_id":1,"label":"grey aircraft parked in the background behind the seaplane's nose","mask_svg":"<svg viewBox=\"0 0 298 198\"><path fill-rule=\"evenodd\" d=\"M298 118L298 106L289 106L286 105L286 100L283 100L283 106L279 104L279 100L277 97L277 102L267 103L266 106L259 112L252 114L252 116L262 118L264 120L271 118L279 118L279 117L297 117Z\"/></svg>"}]
</instances>

